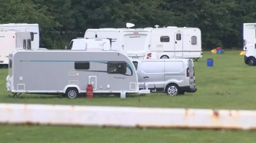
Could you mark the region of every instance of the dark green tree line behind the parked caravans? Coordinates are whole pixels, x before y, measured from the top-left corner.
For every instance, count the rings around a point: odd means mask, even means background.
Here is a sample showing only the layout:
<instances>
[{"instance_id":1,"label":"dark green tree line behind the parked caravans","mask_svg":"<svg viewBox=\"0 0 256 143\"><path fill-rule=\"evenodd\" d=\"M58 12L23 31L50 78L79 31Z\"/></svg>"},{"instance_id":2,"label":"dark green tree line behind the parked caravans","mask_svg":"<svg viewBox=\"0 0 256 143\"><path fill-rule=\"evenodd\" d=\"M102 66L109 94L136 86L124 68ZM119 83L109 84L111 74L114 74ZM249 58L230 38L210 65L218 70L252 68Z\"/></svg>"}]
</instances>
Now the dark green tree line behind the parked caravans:
<instances>
[{"instance_id":1,"label":"dark green tree line behind the parked caravans","mask_svg":"<svg viewBox=\"0 0 256 143\"><path fill-rule=\"evenodd\" d=\"M241 48L241 25L255 0L0 0L0 23L38 23L40 47L63 49L88 28L198 27L203 49Z\"/></svg>"}]
</instances>

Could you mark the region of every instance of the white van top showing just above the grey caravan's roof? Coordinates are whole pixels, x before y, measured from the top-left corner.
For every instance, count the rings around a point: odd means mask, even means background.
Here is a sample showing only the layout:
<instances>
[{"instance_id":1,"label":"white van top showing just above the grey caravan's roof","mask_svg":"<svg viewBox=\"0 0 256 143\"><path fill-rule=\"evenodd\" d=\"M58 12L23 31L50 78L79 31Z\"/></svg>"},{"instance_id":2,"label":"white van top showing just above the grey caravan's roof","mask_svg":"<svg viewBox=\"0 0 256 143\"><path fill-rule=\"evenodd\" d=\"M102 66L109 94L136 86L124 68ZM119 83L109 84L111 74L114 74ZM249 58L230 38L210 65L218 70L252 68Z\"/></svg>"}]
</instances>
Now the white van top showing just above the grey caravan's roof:
<instances>
[{"instance_id":1,"label":"white van top showing just above the grey caravan's roof","mask_svg":"<svg viewBox=\"0 0 256 143\"><path fill-rule=\"evenodd\" d=\"M111 50L112 40L107 38L76 38L72 39L65 49L86 50L102 49Z\"/></svg>"}]
</instances>

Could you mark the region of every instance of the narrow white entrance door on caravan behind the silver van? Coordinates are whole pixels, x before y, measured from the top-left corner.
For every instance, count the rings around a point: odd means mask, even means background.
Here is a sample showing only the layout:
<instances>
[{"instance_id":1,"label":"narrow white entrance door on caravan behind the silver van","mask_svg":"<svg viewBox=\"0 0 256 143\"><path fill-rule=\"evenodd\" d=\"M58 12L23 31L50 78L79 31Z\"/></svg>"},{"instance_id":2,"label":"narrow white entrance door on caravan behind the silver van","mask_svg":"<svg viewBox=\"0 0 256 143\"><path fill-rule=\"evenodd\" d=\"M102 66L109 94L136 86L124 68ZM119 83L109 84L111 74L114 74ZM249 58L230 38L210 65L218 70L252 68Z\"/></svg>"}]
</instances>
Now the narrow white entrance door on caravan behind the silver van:
<instances>
[{"instance_id":1,"label":"narrow white entrance door on caravan behind the silver van","mask_svg":"<svg viewBox=\"0 0 256 143\"><path fill-rule=\"evenodd\" d=\"M181 32L175 33L174 57L183 57L183 33Z\"/></svg>"}]
</instances>

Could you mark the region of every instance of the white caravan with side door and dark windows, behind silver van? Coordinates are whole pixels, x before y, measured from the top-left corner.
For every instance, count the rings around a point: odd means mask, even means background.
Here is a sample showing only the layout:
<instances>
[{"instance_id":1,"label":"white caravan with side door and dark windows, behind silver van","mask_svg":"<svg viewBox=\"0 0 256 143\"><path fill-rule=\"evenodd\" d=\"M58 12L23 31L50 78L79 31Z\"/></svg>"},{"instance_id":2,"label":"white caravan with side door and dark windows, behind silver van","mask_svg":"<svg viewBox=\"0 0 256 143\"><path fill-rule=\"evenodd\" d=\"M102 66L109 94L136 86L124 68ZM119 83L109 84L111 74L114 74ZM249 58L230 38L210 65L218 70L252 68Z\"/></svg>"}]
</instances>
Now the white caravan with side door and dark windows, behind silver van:
<instances>
[{"instance_id":1,"label":"white caravan with side door and dark windows, behind silver van","mask_svg":"<svg viewBox=\"0 0 256 143\"><path fill-rule=\"evenodd\" d=\"M172 57L202 57L201 30L194 27L163 27L151 29L152 59L170 59Z\"/></svg>"}]
</instances>

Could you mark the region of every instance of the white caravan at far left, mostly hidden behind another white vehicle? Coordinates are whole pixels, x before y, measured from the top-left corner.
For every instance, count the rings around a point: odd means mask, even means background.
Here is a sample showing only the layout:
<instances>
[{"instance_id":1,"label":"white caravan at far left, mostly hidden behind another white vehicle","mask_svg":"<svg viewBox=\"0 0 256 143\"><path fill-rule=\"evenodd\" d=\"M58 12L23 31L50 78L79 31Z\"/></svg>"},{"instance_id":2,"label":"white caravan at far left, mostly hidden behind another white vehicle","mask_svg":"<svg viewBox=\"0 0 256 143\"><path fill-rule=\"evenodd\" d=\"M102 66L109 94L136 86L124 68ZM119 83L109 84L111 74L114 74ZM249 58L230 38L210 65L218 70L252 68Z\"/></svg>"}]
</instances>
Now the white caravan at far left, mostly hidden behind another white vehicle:
<instances>
[{"instance_id":1,"label":"white caravan at far left, mostly hidden behind another white vehicle","mask_svg":"<svg viewBox=\"0 0 256 143\"><path fill-rule=\"evenodd\" d=\"M30 32L31 47L33 50L39 48L39 25L38 24L0 24L0 30L16 30L19 32Z\"/></svg>"}]
</instances>

